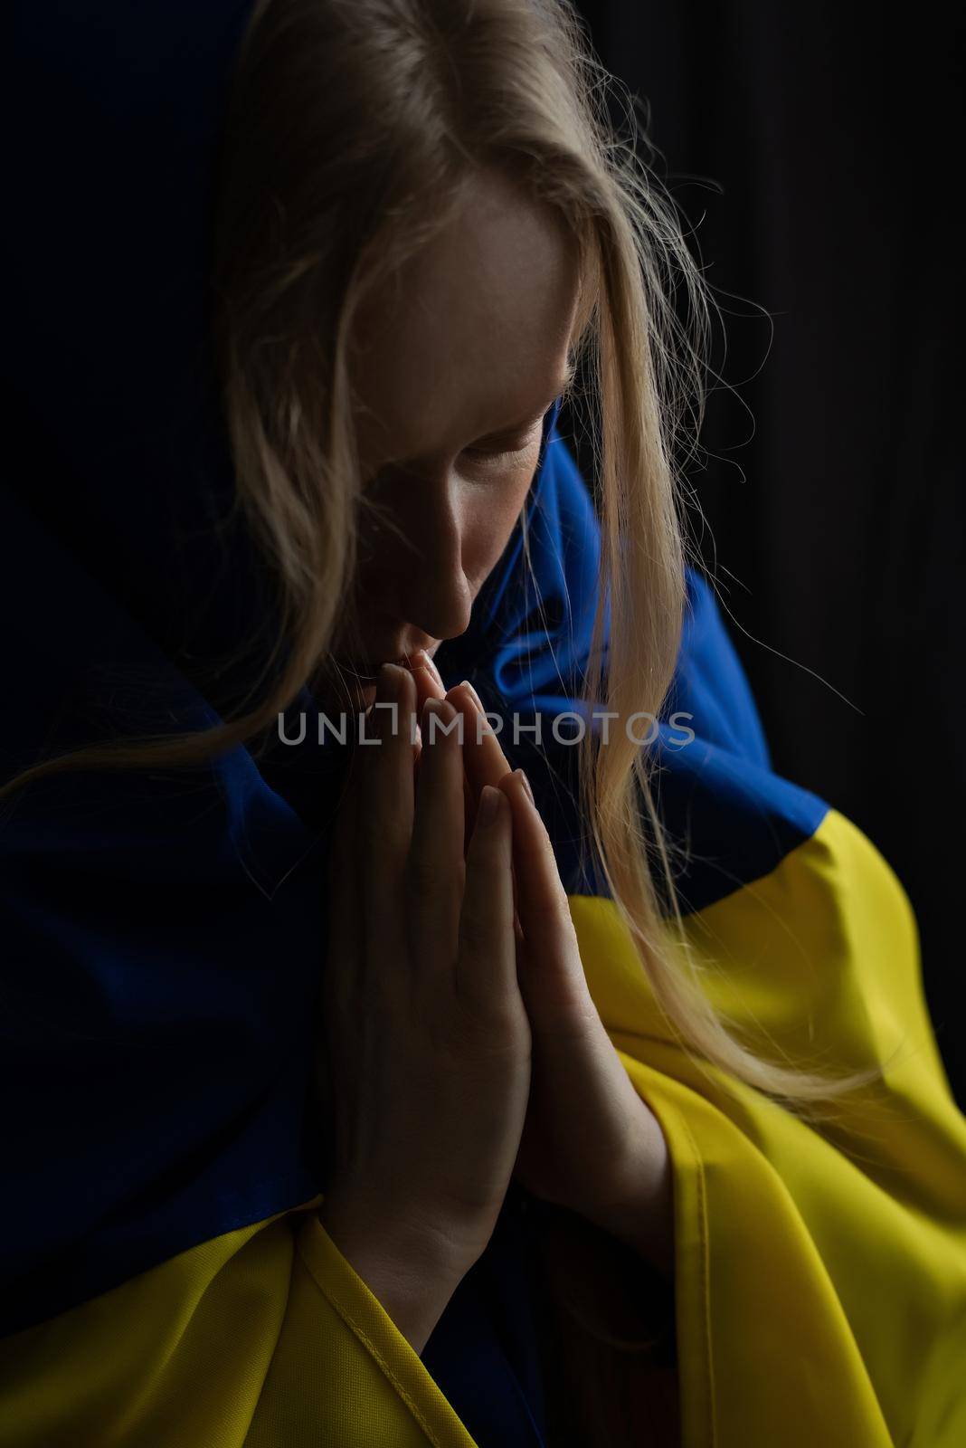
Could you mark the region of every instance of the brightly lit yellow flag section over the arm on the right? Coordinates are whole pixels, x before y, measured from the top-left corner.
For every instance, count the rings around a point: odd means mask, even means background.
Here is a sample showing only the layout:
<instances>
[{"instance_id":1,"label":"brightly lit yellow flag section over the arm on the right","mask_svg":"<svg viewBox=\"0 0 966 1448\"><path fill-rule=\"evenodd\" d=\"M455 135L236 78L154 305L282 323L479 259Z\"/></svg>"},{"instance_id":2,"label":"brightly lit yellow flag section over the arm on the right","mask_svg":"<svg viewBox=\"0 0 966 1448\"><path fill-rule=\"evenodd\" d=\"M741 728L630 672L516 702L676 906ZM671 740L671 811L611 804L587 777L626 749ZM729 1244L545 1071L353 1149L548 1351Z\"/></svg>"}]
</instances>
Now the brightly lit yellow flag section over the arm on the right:
<instances>
[{"instance_id":1,"label":"brightly lit yellow flag section over the arm on the right","mask_svg":"<svg viewBox=\"0 0 966 1448\"><path fill-rule=\"evenodd\" d=\"M687 919L709 995L751 1044L885 1067L817 1125L674 1044L610 901L576 896L571 914L672 1160L683 1448L962 1448L966 1118L886 862L830 811L772 875Z\"/></svg>"}]
</instances>

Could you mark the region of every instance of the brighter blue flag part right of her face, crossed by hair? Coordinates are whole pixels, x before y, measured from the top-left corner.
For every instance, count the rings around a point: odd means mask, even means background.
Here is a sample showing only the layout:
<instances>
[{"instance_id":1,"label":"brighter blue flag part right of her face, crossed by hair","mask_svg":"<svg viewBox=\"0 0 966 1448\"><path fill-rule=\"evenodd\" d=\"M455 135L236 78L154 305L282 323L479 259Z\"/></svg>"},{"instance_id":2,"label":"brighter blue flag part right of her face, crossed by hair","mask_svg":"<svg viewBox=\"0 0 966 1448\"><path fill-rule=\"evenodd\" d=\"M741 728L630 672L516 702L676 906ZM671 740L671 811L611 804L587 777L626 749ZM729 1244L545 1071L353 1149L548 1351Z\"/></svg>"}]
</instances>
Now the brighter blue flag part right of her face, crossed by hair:
<instances>
[{"instance_id":1,"label":"brighter blue flag part right of her face, crossed by hair","mask_svg":"<svg viewBox=\"0 0 966 1448\"><path fill-rule=\"evenodd\" d=\"M508 546L506 573L480 594L470 628L437 652L447 681L469 678L503 723L500 741L512 766L534 782L538 805L570 893L606 895L594 860L581 857L586 827L577 814L577 747L554 737L551 721L578 712L589 730L602 721L578 705L589 659L600 527L573 453L557 427L557 408L539 476L528 504L534 578L523 568L519 533ZM499 573L499 578L497 578ZM610 610L604 611L604 643ZM597 705L603 711L603 704ZM518 715L519 743L512 718ZM544 715L539 747L531 733ZM561 723L561 740L577 734ZM612 727L615 727L612 724ZM688 740L687 731L694 737ZM636 725L646 737L648 721ZM672 843L681 908L697 911L759 879L817 830L827 804L775 775L748 679L709 584L687 569L681 650L658 737L655 792Z\"/></svg>"}]
</instances>

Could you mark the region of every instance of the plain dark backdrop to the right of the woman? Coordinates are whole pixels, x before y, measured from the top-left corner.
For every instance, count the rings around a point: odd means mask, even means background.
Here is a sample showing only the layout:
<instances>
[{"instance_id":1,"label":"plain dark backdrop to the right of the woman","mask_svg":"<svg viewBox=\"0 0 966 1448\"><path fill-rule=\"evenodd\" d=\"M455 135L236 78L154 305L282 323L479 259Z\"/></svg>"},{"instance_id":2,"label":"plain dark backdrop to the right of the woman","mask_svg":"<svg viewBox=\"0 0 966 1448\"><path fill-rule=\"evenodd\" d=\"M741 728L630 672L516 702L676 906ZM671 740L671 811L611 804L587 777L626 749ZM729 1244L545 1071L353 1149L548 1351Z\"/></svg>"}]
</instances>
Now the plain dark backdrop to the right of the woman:
<instances>
[{"instance_id":1,"label":"plain dark backdrop to the right of the woman","mask_svg":"<svg viewBox=\"0 0 966 1448\"><path fill-rule=\"evenodd\" d=\"M962 20L931 0L894 20L842 0L581 10L726 308L735 391L691 481L775 767L908 891L966 1108Z\"/></svg>"}]
</instances>

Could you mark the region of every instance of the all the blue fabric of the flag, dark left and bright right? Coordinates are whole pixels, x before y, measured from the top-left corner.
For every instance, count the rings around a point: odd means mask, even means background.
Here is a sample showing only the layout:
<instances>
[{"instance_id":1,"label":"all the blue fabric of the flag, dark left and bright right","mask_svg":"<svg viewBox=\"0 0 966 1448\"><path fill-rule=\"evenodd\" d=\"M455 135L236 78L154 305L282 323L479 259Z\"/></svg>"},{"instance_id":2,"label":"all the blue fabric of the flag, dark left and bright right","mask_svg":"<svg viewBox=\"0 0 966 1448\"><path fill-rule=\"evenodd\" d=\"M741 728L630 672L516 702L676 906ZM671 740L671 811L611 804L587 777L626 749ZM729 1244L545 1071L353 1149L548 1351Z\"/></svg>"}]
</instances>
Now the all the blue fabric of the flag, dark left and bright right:
<instances>
[{"instance_id":1,"label":"all the blue fabric of the flag, dark left and bright right","mask_svg":"<svg viewBox=\"0 0 966 1448\"><path fill-rule=\"evenodd\" d=\"M272 643L205 350L211 167L247 10L14 6L4 779L94 738L217 723ZM557 417L526 505L534 578L518 527L437 659L523 723L573 707L596 604L597 523ZM697 737L683 747L662 721L661 808L700 908L772 869L826 807L769 772L694 573L671 707ZM298 747L54 776L0 802L3 1332L322 1189L320 882L347 749L318 747L307 691L289 712L307 715ZM508 753L567 888L600 889L580 860L577 752L544 744ZM544 1438L518 1206L510 1193L425 1354L482 1448Z\"/></svg>"}]
</instances>

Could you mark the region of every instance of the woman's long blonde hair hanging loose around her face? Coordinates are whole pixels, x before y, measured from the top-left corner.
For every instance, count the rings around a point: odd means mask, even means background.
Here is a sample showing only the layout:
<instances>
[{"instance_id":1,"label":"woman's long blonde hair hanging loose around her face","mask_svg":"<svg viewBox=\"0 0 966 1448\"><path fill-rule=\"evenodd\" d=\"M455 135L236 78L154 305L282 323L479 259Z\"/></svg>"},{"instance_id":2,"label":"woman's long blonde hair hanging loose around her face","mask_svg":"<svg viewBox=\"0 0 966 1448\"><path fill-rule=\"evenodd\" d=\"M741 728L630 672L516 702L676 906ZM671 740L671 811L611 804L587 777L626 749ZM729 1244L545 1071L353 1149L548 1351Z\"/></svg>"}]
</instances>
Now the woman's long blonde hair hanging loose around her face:
<instances>
[{"instance_id":1,"label":"woman's long blonde hair hanging loose around her face","mask_svg":"<svg viewBox=\"0 0 966 1448\"><path fill-rule=\"evenodd\" d=\"M364 297L447 224L467 180L486 167L551 207L578 251L573 356L586 363L597 414L590 433L603 555L586 698L620 718L658 714L685 601L674 458L700 429L709 292L672 204L633 140L616 133L609 96L613 77L570 0L259 0L223 132L213 337L237 504L272 562L279 599L275 649L246 707L269 670L276 678L257 707L217 728L91 744L35 765L0 794L84 765L211 757L292 702L325 654L356 568L363 500L347 365L353 321ZM583 817L684 1048L791 1109L878 1074L797 1070L732 1034L685 946L645 750L622 730L607 749L594 753L590 733L580 747Z\"/></svg>"}]
</instances>

